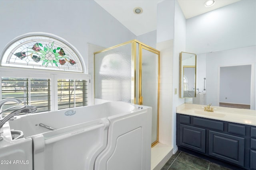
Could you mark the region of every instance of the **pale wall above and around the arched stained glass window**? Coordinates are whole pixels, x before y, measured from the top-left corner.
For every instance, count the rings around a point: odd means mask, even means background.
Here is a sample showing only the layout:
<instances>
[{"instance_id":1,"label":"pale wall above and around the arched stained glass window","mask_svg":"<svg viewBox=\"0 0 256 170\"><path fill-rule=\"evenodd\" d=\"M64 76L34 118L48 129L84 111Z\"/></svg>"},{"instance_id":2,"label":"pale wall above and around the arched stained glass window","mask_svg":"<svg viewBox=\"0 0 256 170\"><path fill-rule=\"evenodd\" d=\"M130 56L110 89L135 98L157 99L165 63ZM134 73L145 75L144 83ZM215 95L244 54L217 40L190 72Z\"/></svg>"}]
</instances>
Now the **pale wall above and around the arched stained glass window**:
<instances>
[{"instance_id":1,"label":"pale wall above and around the arched stained glass window","mask_svg":"<svg viewBox=\"0 0 256 170\"><path fill-rule=\"evenodd\" d=\"M86 65L87 43L111 47L136 38L94 0L1 0L0 23L0 51L18 35L47 32L74 45Z\"/></svg>"}]
</instances>

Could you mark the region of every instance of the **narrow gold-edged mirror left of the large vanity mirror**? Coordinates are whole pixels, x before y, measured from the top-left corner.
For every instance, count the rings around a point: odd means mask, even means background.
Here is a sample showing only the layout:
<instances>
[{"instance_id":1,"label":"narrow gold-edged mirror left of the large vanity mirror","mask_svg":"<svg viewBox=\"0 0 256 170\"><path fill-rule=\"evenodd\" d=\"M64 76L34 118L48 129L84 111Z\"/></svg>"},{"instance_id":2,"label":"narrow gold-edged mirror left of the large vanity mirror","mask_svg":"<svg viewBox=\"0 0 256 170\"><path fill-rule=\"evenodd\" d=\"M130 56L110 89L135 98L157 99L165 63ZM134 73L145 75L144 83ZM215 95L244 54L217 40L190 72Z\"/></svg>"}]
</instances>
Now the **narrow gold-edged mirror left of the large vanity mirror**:
<instances>
[{"instance_id":1,"label":"narrow gold-edged mirror left of the large vanity mirror","mask_svg":"<svg viewBox=\"0 0 256 170\"><path fill-rule=\"evenodd\" d=\"M180 98L196 97L196 54L180 53Z\"/></svg>"}]
</instances>

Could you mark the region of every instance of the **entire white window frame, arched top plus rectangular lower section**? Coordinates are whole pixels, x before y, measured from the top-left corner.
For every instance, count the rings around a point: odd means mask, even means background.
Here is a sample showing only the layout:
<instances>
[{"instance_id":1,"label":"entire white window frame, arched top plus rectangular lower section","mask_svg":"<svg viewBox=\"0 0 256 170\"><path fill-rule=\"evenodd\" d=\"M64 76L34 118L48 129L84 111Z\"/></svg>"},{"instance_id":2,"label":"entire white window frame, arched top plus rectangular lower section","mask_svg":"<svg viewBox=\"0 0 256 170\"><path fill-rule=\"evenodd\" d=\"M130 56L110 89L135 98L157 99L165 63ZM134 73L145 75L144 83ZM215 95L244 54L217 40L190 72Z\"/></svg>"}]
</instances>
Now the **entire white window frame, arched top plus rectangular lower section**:
<instances>
[{"instance_id":1,"label":"entire white window frame, arched top plus rectangular lower section","mask_svg":"<svg viewBox=\"0 0 256 170\"><path fill-rule=\"evenodd\" d=\"M57 41L60 41L59 43L63 43L64 46L67 46L70 51L73 51L76 54L76 57L81 62L82 70L76 72L76 71L66 71L66 70L49 70L49 69L37 69L37 68L22 68L22 64L17 64L16 66L10 66L9 64L5 64L3 61L6 60L5 52L6 50L13 45L16 41L20 41L25 39L26 37L31 36L43 36L46 37L46 39L53 38ZM9 54L8 54L9 55ZM84 60L82 58L82 55L79 53L79 51L71 45L68 41L65 39L51 34L51 33L44 33L44 32L31 32L26 33L23 35L20 35L16 38L14 38L12 41L10 41L5 47L4 50L0 53L0 76L1 77L17 77L17 78L50 78L51 82L51 111L57 111L58 110L58 79L82 79L82 80L88 80L88 105L93 104L93 98L91 93L91 84L90 84L90 75L86 72L86 65L84 63ZM0 100L2 100L2 83L0 83ZM82 107L82 106L81 106ZM70 109L70 108L69 108ZM49 112L49 111L47 111ZM43 112L40 112L43 113Z\"/></svg>"}]
</instances>

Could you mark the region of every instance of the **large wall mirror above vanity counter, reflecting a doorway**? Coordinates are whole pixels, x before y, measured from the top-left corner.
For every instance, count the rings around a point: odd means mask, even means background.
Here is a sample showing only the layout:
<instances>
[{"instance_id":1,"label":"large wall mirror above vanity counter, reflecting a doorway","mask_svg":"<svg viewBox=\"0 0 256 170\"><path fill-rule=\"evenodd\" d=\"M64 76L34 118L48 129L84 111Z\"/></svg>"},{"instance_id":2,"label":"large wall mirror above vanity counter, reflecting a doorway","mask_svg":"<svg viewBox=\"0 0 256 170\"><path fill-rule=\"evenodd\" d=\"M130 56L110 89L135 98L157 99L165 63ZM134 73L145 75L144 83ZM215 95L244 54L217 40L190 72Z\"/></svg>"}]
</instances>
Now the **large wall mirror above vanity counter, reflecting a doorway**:
<instances>
[{"instance_id":1,"label":"large wall mirror above vanity counter, reflecting a doorway","mask_svg":"<svg viewBox=\"0 0 256 170\"><path fill-rule=\"evenodd\" d=\"M197 94L185 103L255 110L255 56L255 46L197 54Z\"/></svg>"}]
</instances>

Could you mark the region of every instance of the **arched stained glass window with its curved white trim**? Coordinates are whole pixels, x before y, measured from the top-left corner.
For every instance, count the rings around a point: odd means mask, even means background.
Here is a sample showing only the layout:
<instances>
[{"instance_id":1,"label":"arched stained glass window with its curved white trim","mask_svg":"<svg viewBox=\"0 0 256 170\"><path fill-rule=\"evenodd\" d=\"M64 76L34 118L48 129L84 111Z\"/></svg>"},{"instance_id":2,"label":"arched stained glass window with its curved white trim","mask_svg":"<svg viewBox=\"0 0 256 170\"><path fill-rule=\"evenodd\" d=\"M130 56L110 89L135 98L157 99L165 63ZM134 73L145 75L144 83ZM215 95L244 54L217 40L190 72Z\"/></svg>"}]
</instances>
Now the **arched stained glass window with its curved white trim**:
<instances>
[{"instance_id":1,"label":"arched stained glass window with its curved white trim","mask_svg":"<svg viewBox=\"0 0 256 170\"><path fill-rule=\"evenodd\" d=\"M28 33L6 45L1 66L84 72L80 53L66 40L49 33Z\"/></svg>"}]
</instances>

